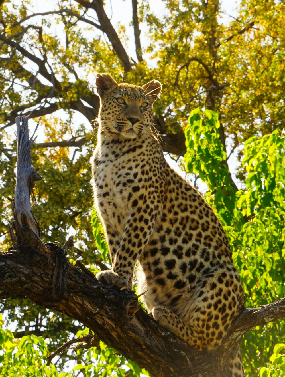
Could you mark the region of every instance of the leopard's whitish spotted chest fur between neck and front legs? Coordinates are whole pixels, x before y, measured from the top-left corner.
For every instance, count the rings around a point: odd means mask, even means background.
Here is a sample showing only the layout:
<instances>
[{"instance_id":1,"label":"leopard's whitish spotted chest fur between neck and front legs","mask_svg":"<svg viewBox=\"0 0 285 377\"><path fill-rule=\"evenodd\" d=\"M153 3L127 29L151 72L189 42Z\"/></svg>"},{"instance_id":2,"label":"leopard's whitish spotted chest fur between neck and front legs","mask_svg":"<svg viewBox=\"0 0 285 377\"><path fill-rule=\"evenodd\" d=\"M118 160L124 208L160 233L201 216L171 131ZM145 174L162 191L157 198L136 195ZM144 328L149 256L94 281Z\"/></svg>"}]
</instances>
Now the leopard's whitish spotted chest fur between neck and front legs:
<instances>
[{"instance_id":1,"label":"leopard's whitish spotted chest fur between neck and front legs","mask_svg":"<svg viewBox=\"0 0 285 377\"><path fill-rule=\"evenodd\" d=\"M143 143L144 144L144 143ZM133 140L98 140L93 155L95 204L107 227L123 231L130 215L130 196L144 157L144 146Z\"/></svg>"}]
</instances>

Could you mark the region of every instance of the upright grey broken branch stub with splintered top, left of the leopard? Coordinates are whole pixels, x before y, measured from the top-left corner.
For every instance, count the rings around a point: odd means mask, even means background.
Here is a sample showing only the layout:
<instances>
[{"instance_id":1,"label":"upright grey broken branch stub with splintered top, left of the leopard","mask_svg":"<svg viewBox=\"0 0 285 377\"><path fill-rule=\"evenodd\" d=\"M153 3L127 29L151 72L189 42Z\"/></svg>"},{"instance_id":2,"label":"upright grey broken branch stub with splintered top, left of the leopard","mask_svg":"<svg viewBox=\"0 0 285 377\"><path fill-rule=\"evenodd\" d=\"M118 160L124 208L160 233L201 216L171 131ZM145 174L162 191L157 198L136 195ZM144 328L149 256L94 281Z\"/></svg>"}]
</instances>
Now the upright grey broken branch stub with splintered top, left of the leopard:
<instances>
[{"instance_id":1,"label":"upright grey broken branch stub with splintered top, left of the leopard","mask_svg":"<svg viewBox=\"0 0 285 377\"><path fill-rule=\"evenodd\" d=\"M35 219L30 204L30 195L35 187L35 181L42 177L38 174L38 168L32 167L31 148L36 137L35 132L39 123L29 138L29 116L17 116L17 181L14 197L14 220L9 226L13 243L25 243L26 233L32 231L34 237L40 240L40 227ZM15 233L14 233L15 231Z\"/></svg>"}]
</instances>

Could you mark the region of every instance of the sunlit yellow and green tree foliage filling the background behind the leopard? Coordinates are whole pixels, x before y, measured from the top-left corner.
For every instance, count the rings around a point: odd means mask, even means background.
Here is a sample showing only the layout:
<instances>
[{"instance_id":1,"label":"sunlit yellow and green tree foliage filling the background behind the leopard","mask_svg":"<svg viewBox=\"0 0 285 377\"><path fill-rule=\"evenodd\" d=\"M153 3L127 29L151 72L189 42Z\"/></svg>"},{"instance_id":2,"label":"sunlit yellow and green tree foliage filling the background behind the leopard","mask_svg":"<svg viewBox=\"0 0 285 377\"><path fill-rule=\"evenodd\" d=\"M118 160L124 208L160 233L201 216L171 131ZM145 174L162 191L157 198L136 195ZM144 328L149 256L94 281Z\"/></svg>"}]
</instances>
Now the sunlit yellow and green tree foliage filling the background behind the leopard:
<instances>
[{"instance_id":1,"label":"sunlit yellow and green tree foliage filling the background behind the leopard","mask_svg":"<svg viewBox=\"0 0 285 377\"><path fill-rule=\"evenodd\" d=\"M64 244L75 234L71 259L81 259L93 272L109 263L90 185L99 110L95 77L108 72L117 81L140 85L157 79L163 89L154 124L162 148L174 159L184 156L181 169L190 173L193 184L206 182L205 198L227 231L246 305L258 307L285 296L283 2L242 0L226 23L218 0L163 0L160 14L147 0L122 4L132 14L130 35L123 23L112 22L102 0L50 1L44 12L29 0L0 0L2 250L11 244L13 125L16 116L29 114L36 121L41 116L41 140L32 150L33 164L43 176L33 210L41 239ZM11 352L16 346L17 352L28 352L23 345L34 344L37 358L37 352L47 354L47 342L53 351L87 331L26 299L6 299L0 308L4 328L15 323L14 334L2 337ZM259 369L261 376L285 373L284 325L271 323L244 337L248 375ZM0 363L6 363L1 357ZM84 375L124 375L120 369L140 374L134 363L125 368L122 356L102 344L101 351L62 354L51 375L66 371L68 360L83 365L70 369L70 375L82 370ZM98 369L89 368L91 363Z\"/></svg>"}]
</instances>

